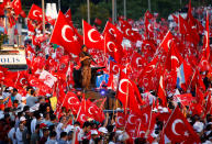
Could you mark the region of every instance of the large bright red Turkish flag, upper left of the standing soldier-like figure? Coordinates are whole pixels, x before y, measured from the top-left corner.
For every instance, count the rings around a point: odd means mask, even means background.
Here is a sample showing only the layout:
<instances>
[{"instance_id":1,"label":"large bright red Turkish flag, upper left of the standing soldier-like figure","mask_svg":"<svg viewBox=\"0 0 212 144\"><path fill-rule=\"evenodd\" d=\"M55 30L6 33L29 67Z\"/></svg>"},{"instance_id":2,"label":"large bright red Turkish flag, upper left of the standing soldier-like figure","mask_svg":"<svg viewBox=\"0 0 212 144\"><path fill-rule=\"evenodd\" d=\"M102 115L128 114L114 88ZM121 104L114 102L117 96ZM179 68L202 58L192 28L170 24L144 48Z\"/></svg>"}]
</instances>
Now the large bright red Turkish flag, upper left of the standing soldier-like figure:
<instances>
[{"instance_id":1,"label":"large bright red Turkish flag, upper left of the standing soldier-like figure","mask_svg":"<svg viewBox=\"0 0 212 144\"><path fill-rule=\"evenodd\" d=\"M80 43L71 25L67 22L65 15L59 11L51 43L62 45L68 53L78 55L80 53Z\"/></svg>"}]
</instances>

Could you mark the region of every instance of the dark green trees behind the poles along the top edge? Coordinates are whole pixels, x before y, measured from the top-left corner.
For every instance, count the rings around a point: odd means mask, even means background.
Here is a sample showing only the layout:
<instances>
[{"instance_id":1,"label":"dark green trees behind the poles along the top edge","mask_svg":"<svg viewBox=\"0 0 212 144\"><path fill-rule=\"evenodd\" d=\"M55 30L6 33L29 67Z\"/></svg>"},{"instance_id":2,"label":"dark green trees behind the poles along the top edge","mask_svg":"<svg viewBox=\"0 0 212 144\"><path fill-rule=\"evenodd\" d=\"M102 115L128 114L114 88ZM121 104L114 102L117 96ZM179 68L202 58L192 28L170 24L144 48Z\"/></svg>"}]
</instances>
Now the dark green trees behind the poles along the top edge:
<instances>
[{"instance_id":1,"label":"dark green trees behind the poles along the top edge","mask_svg":"<svg viewBox=\"0 0 212 144\"><path fill-rule=\"evenodd\" d=\"M32 3L41 7L41 0L21 0L24 11L30 10ZM96 3L93 4L92 1ZM58 3L58 0L45 0L47 2ZM158 12L159 18L167 19L168 14L183 8L189 3L189 0L150 0L152 12ZM192 7L209 5L211 0L192 0ZM81 20L87 20L87 0L60 0L62 11L66 12L70 8L72 13L72 21L75 25L80 26ZM144 15L145 11L148 9L148 0L126 0L126 16L133 20L138 20ZM123 0L116 0L116 12L118 18L123 15ZM102 21L104 26L108 18L112 16L112 0L90 0L90 13L91 13L91 24L96 18Z\"/></svg>"}]
</instances>

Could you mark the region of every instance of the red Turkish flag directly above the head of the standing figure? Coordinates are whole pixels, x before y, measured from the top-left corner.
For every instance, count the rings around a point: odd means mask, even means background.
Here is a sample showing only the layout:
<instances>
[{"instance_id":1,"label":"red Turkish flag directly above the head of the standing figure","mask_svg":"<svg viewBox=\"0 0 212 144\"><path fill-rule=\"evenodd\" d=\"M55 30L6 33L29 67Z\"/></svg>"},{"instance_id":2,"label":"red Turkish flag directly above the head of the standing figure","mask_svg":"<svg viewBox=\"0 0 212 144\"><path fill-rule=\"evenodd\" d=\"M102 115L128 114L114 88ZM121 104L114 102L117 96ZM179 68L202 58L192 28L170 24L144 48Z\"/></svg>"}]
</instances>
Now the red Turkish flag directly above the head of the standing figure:
<instances>
[{"instance_id":1,"label":"red Turkish flag directly above the head of the standing figure","mask_svg":"<svg viewBox=\"0 0 212 144\"><path fill-rule=\"evenodd\" d=\"M83 25L83 43L90 48L97 48L103 51L103 36L86 21L82 21Z\"/></svg>"}]
</instances>

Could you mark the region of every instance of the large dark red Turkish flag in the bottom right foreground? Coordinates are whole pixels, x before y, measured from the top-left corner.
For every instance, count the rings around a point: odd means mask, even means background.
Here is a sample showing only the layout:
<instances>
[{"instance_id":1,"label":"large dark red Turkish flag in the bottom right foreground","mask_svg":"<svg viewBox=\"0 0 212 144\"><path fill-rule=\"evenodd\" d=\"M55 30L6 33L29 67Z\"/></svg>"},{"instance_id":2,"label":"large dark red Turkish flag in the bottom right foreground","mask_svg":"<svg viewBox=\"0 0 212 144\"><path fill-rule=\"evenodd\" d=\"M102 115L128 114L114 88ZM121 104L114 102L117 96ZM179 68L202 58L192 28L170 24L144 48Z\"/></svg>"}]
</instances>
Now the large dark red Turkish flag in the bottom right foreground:
<instances>
[{"instance_id":1,"label":"large dark red Turkish flag in the bottom right foreground","mask_svg":"<svg viewBox=\"0 0 212 144\"><path fill-rule=\"evenodd\" d=\"M164 133L171 143L181 143L183 141L187 143L200 143L199 135L193 131L193 128L178 107L174 110L166 123Z\"/></svg>"}]
</instances>

